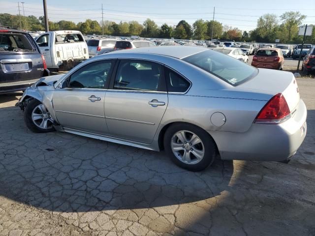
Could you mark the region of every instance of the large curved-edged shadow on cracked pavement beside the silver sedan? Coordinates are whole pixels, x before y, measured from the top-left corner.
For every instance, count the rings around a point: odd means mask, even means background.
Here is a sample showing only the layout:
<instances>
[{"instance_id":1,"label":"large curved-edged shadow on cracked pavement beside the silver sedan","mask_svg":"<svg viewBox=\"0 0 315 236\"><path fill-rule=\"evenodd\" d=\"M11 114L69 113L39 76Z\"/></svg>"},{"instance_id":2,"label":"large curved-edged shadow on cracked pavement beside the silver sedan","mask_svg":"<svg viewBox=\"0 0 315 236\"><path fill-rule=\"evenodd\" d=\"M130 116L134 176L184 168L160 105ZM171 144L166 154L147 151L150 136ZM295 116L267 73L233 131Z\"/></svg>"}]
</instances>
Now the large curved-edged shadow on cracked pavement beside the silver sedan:
<instances>
[{"instance_id":1,"label":"large curved-edged shadow on cracked pavement beside the silver sedan","mask_svg":"<svg viewBox=\"0 0 315 236\"><path fill-rule=\"evenodd\" d=\"M229 189L233 162L193 173L164 152L61 132L35 134L22 111L0 109L0 195L59 212L160 207L212 199ZM174 209L173 209L174 208Z\"/></svg>"}]
</instances>

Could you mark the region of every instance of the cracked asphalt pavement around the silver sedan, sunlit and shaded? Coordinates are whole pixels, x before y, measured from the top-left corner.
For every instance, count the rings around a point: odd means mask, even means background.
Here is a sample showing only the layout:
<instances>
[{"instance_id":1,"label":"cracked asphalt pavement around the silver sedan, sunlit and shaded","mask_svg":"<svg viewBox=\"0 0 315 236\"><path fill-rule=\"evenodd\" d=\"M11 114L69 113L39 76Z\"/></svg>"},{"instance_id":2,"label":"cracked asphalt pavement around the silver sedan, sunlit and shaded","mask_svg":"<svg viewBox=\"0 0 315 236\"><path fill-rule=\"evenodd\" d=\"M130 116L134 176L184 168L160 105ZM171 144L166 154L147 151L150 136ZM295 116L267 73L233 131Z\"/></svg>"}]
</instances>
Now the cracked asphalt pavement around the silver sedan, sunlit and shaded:
<instances>
[{"instance_id":1,"label":"cracked asphalt pavement around the silver sedan, sunlit and shaded","mask_svg":"<svg viewBox=\"0 0 315 236\"><path fill-rule=\"evenodd\" d=\"M22 93L0 95L0 236L315 236L315 80L298 84L308 134L291 162L198 173L164 152L32 133Z\"/></svg>"}]
</instances>

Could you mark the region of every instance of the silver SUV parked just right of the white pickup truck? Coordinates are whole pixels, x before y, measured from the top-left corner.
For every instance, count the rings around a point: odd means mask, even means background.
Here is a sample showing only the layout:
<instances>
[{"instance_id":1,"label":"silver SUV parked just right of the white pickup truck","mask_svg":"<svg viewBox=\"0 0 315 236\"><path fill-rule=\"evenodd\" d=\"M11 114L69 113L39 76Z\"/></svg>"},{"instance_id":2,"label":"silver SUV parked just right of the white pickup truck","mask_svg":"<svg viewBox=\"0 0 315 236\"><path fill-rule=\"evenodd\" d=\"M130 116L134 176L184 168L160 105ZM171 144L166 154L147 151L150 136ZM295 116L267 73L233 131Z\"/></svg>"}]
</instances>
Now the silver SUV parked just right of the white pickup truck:
<instances>
[{"instance_id":1,"label":"silver SUV parked just right of the white pickup truck","mask_svg":"<svg viewBox=\"0 0 315 236\"><path fill-rule=\"evenodd\" d=\"M95 57L114 51L116 39L90 39L88 44L89 57Z\"/></svg>"}]
</instances>

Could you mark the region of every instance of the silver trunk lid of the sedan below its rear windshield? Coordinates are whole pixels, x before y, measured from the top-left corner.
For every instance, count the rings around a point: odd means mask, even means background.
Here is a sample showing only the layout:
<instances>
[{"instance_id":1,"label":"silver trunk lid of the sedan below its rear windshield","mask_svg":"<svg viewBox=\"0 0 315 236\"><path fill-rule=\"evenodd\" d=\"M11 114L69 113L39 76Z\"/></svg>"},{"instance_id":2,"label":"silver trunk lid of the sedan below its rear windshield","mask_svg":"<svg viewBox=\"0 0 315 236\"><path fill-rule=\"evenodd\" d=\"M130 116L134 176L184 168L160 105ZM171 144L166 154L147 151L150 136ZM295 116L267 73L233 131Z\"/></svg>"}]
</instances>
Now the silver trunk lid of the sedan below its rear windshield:
<instances>
[{"instance_id":1,"label":"silver trunk lid of the sedan below its rear windshield","mask_svg":"<svg viewBox=\"0 0 315 236\"><path fill-rule=\"evenodd\" d=\"M299 89L291 72L259 69L259 73L254 78L237 88L259 90L272 96L282 93L291 113L300 101Z\"/></svg>"}]
</instances>

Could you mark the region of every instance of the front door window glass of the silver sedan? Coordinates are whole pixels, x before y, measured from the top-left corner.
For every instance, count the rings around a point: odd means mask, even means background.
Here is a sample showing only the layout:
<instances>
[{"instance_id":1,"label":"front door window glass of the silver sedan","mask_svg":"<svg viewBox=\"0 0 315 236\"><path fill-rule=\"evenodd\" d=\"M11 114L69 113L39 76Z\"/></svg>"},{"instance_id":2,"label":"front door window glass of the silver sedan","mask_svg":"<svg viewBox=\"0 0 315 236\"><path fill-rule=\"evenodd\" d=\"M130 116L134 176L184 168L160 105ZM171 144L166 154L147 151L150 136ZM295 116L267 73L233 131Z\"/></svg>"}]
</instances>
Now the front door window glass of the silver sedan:
<instances>
[{"instance_id":1,"label":"front door window glass of the silver sedan","mask_svg":"<svg viewBox=\"0 0 315 236\"><path fill-rule=\"evenodd\" d=\"M89 63L71 74L63 82L62 88L105 89L111 66L112 61L109 60Z\"/></svg>"}]
</instances>

